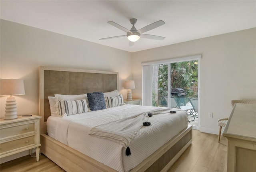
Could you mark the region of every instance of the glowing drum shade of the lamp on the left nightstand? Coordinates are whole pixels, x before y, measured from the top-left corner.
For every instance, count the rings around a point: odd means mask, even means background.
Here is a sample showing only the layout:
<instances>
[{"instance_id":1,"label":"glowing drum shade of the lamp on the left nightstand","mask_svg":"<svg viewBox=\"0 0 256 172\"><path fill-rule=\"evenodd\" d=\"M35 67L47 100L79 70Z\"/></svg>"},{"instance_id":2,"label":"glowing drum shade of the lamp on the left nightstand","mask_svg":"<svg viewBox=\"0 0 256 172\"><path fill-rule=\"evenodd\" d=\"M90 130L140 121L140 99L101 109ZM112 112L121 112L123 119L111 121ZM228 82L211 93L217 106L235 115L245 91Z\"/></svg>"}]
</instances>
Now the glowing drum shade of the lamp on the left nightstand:
<instances>
[{"instance_id":1,"label":"glowing drum shade of the lamp on the left nightstand","mask_svg":"<svg viewBox=\"0 0 256 172\"><path fill-rule=\"evenodd\" d=\"M0 96L24 95L23 80L6 79L0 80Z\"/></svg>"}]
</instances>

